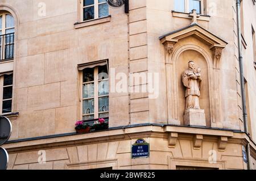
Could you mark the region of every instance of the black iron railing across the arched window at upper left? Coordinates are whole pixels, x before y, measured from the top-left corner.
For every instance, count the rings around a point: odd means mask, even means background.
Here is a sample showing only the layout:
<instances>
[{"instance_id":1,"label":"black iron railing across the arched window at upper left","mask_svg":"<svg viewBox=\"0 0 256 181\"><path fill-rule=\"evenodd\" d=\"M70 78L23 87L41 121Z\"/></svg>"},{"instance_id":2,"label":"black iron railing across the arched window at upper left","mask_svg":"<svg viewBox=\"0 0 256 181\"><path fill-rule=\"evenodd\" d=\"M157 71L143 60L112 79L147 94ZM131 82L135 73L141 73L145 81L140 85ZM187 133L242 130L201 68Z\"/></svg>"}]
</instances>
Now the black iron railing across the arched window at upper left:
<instances>
[{"instance_id":1,"label":"black iron railing across the arched window at upper left","mask_svg":"<svg viewBox=\"0 0 256 181\"><path fill-rule=\"evenodd\" d=\"M0 35L0 61L14 58L14 33Z\"/></svg>"}]
</instances>

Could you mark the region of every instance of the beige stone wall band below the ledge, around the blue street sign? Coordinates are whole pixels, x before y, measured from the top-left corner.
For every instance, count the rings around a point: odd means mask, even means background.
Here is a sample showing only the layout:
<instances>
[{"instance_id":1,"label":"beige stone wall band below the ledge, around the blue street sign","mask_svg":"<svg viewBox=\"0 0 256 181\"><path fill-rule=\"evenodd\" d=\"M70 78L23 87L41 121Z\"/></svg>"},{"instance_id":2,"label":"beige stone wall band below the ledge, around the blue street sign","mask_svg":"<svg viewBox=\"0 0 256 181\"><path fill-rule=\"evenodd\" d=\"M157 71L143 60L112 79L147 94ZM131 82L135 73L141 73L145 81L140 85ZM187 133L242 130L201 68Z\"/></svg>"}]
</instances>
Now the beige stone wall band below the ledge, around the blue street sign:
<instances>
[{"instance_id":1,"label":"beige stone wall band below the ledge, around the blue street sign","mask_svg":"<svg viewBox=\"0 0 256 181\"><path fill-rule=\"evenodd\" d=\"M229 143L225 151L218 151L217 140L205 137L201 148L193 148L193 137L179 137L175 148L168 147L166 137L146 137L150 143L150 158L131 159L131 145L136 141L117 140L98 144L48 148L46 163L38 163L39 149L11 153L8 169L176 169L176 166L213 167L217 169L245 169L242 146ZM41 149L42 150L42 149ZM216 163L209 163L209 151L216 151ZM210 159L211 160L211 159Z\"/></svg>"}]
</instances>

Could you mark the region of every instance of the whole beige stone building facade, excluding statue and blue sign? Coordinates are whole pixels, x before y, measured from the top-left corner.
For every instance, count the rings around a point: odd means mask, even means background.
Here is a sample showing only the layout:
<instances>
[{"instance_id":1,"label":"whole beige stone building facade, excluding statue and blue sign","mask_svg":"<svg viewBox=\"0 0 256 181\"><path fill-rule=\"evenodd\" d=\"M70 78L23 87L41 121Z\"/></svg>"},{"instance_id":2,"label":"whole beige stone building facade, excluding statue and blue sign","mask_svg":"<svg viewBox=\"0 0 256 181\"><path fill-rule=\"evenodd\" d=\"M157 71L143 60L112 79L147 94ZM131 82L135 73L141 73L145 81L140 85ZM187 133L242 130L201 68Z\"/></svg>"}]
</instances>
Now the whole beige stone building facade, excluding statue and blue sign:
<instances>
[{"instance_id":1,"label":"whole beige stone building facade, excluding statue and blue sign","mask_svg":"<svg viewBox=\"0 0 256 181\"><path fill-rule=\"evenodd\" d=\"M8 169L247 169L248 144L255 169L255 4L241 7L245 133L235 0L130 0L129 13L101 0L0 0ZM190 60L206 126L184 121ZM109 129L76 133L99 117ZM139 138L150 155L132 159Z\"/></svg>"}]
</instances>

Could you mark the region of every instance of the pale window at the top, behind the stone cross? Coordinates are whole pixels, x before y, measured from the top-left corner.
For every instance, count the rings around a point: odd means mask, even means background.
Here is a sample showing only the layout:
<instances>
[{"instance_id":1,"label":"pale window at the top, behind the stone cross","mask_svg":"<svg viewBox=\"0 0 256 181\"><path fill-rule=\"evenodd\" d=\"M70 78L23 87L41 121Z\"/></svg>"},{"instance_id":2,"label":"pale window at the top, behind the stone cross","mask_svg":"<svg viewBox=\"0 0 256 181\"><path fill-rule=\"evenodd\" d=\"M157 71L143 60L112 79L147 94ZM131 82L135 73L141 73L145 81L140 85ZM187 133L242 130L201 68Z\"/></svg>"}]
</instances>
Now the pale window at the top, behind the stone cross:
<instances>
[{"instance_id":1,"label":"pale window at the top, behind the stone cross","mask_svg":"<svg viewBox=\"0 0 256 181\"><path fill-rule=\"evenodd\" d=\"M192 12L196 10L197 14L203 12L202 0L175 0L175 11L178 12Z\"/></svg>"}]
</instances>

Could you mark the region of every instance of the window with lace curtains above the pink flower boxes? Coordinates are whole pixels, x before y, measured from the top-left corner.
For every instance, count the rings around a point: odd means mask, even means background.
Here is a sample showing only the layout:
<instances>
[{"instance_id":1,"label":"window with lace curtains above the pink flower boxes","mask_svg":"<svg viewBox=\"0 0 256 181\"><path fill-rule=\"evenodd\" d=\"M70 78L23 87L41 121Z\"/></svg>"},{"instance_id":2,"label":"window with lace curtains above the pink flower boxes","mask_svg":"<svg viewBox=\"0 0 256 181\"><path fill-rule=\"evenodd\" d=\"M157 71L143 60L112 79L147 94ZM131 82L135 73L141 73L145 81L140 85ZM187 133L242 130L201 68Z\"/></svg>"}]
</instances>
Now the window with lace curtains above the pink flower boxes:
<instances>
[{"instance_id":1,"label":"window with lace curtains above the pink flower boxes","mask_svg":"<svg viewBox=\"0 0 256 181\"><path fill-rule=\"evenodd\" d=\"M108 66L82 71L82 120L109 117Z\"/></svg>"}]
</instances>

